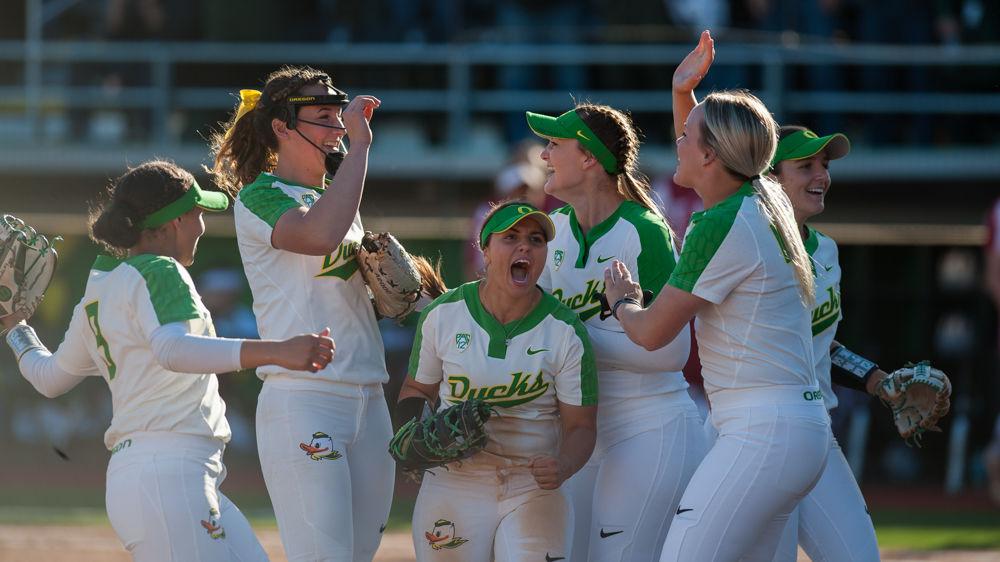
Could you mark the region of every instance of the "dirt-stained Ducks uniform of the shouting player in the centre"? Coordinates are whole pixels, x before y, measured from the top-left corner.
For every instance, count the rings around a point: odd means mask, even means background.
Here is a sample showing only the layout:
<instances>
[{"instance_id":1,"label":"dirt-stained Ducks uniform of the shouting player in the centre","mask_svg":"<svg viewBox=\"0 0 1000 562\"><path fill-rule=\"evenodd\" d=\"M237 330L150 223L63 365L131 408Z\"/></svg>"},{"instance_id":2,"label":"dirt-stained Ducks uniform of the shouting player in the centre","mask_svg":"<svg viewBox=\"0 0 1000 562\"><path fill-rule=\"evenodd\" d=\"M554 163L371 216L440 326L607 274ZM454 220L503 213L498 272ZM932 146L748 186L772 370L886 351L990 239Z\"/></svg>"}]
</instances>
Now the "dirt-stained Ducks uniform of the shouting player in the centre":
<instances>
[{"instance_id":1,"label":"dirt-stained Ducks uniform of the shouting player in the centre","mask_svg":"<svg viewBox=\"0 0 1000 562\"><path fill-rule=\"evenodd\" d=\"M420 316L410 375L439 385L441 408L489 401L484 451L426 474L413 513L417 560L567 559L572 512L561 489L541 490L528 468L559 449L559 404L597 403L586 329L547 293L526 317L501 325L479 283L437 298Z\"/></svg>"}]
</instances>

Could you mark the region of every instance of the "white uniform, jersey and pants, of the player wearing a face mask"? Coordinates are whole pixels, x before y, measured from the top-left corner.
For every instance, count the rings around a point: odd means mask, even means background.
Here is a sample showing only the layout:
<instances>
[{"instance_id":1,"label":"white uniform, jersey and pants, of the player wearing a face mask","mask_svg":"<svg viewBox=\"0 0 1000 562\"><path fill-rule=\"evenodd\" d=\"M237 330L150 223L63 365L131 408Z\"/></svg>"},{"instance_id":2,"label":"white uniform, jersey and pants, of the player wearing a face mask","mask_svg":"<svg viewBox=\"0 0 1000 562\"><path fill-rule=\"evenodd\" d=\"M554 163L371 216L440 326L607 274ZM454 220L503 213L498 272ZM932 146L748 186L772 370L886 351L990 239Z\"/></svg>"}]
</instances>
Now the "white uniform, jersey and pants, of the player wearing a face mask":
<instances>
[{"instance_id":1,"label":"white uniform, jersey and pants, of the player wearing a face mask","mask_svg":"<svg viewBox=\"0 0 1000 562\"><path fill-rule=\"evenodd\" d=\"M335 186L332 188L335 189ZM361 219L337 250L307 256L271 245L282 214L322 188L263 173L234 207L236 236L262 338L330 328L333 361L316 373L262 367L257 448L290 561L370 561L392 503L385 353L354 253ZM336 194L334 193L334 196Z\"/></svg>"}]
</instances>

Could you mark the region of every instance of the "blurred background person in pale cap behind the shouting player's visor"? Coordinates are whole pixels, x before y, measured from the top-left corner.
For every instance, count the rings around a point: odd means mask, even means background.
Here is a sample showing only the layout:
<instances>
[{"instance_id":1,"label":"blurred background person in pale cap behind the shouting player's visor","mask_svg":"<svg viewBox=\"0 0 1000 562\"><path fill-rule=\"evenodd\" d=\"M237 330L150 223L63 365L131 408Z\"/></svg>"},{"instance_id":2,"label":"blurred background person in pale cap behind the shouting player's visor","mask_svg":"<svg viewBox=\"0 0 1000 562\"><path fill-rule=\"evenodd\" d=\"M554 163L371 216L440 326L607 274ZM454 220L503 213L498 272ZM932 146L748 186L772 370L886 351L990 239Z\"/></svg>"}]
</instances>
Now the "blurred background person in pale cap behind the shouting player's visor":
<instances>
[{"instance_id":1,"label":"blurred background person in pale cap behind the shouting player's visor","mask_svg":"<svg viewBox=\"0 0 1000 562\"><path fill-rule=\"evenodd\" d=\"M523 120L523 116L522 116ZM483 255L479 251L479 230L491 205L506 199L524 199L546 213L562 206L562 202L545 193L545 162L542 146L526 140L517 145L510 160L493 182L493 194L476 207L472 215L469 241L465 244L465 280L478 279L483 269Z\"/></svg>"}]
</instances>

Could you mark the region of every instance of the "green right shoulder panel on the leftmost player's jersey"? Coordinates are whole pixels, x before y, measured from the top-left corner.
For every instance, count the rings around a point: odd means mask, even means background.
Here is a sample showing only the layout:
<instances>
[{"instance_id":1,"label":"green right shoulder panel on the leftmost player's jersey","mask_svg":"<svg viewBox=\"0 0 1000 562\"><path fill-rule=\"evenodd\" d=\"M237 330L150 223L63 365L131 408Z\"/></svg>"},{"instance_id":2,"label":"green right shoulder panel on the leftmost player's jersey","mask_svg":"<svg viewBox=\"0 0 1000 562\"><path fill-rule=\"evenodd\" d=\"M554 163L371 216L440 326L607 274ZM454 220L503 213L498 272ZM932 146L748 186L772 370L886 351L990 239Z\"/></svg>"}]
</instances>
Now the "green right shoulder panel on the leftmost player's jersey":
<instances>
[{"instance_id":1,"label":"green right shoulder panel on the leftmost player's jersey","mask_svg":"<svg viewBox=\"0 0 1000 562\"><path fill-rule=\"evenodd\" d=\"M201 318L198 293L181 275L182 266L173 258L141 254L125 263L134 267L146 281L149 300L161 326Z\"/></svg>"}]
</instances>

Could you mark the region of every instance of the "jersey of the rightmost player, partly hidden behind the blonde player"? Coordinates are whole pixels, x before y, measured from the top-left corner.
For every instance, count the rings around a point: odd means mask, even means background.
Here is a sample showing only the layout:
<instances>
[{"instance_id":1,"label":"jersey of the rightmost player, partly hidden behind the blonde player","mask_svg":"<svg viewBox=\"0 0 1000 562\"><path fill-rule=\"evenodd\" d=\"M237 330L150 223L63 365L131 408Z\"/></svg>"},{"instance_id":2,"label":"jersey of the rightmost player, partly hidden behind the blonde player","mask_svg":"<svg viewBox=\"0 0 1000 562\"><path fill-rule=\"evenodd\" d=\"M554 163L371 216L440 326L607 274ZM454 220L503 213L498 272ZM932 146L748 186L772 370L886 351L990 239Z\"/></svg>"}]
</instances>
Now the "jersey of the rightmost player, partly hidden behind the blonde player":
<instances>
[{"instance_id":1,"label":"jersey of the rightmost player, partly hidden behind the blonde player","mask_svg":"<svg viewBox=\"0 0 1000 562\"><path fill-rule=\"evenodd\" d=\"M812 312L813 356L816 378L823 391L827 410L837 407L837 395L830 382L830 344L837 335L837 325L844 318L840 311L840 259L837 243L822 232L809 228L806 252L816 270L816 304Z\"/></svg>"}]
</instances>

